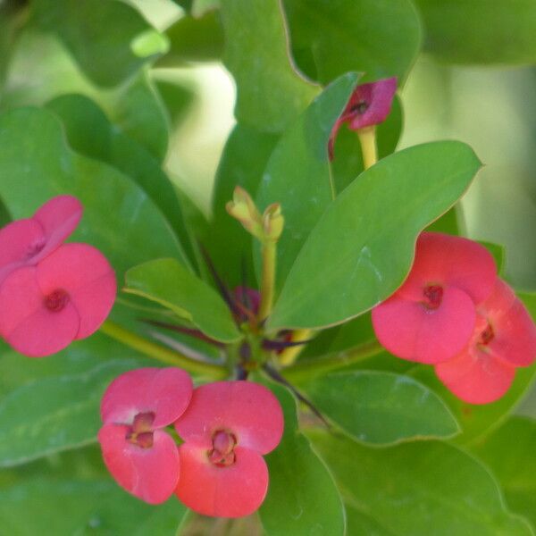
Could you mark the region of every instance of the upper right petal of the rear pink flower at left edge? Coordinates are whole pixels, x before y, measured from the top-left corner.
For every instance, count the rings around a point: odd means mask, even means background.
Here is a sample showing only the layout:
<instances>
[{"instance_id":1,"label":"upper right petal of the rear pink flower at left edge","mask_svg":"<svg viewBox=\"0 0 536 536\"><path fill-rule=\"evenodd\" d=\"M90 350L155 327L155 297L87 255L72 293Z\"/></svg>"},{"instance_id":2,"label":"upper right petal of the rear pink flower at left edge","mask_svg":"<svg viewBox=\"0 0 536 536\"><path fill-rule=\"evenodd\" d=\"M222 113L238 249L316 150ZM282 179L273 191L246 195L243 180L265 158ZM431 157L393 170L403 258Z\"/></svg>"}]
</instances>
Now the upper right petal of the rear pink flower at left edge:
<instances>
[{"instance_id":1,"label":"upper right petal of the rear pink flower at left edge","mask_svg":"<svg viewBox=\"0 0 536 536\"><path fill-rule=\"evenodd\" d=\"M82 211L82 204L72 196L53 197L38 208L33 219L40 223L46 235L46 246L38 255L38 259L45 258L54 251L76 229Z\"/></svg>"}]
</instances>

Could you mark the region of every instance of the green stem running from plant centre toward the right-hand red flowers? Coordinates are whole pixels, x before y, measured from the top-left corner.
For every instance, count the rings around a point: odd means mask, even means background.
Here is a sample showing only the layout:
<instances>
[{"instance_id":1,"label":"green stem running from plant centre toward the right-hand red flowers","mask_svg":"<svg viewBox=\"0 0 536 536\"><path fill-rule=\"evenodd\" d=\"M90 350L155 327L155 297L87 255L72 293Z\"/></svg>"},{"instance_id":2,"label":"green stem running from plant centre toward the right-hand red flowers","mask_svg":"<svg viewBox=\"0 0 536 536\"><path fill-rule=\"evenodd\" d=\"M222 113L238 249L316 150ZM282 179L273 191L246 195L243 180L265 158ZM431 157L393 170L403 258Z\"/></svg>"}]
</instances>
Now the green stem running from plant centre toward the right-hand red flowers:
<instances>
[{"instance_id":1,"label":"green stem running from plant centre toward the right-hand red flowers","mask_svg":"<svg viewBox=\"0 0 536 536\"><path fill-rule=\"evenodd\" d=\"M281 374L289 381L299 381L314 374L329 373L330 371L354 364L367 357L375 356L383 350L377 340L365 342L361 346L351 348L335 356L323 356L307 359L287 368L281 369Z\"/></svg>"}]
</instances>

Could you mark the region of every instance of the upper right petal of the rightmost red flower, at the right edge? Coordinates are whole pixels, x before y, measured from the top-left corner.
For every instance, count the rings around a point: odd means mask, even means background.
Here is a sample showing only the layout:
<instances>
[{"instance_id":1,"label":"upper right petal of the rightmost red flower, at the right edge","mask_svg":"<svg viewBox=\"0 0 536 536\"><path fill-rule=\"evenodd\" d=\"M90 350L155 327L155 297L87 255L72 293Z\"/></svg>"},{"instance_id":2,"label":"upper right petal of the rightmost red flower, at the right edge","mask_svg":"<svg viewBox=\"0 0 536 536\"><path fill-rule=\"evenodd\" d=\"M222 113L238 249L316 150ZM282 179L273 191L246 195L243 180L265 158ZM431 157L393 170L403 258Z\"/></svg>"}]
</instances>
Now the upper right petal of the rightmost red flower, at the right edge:
<instances>
[{"instance_id":1,"label":"upper right petal of the rightmost red flower, at the right edge","mask_svg":"<svg viewBox=\"0 0 536 536\"><path fill-rule=\"evenodd\" d=\"M491 296L479 311L488 319L494 337L488 348L495 356L517 366L536 359L536 326L523 302L507 283L497 279Z\"/></svg>"}]
</instances>

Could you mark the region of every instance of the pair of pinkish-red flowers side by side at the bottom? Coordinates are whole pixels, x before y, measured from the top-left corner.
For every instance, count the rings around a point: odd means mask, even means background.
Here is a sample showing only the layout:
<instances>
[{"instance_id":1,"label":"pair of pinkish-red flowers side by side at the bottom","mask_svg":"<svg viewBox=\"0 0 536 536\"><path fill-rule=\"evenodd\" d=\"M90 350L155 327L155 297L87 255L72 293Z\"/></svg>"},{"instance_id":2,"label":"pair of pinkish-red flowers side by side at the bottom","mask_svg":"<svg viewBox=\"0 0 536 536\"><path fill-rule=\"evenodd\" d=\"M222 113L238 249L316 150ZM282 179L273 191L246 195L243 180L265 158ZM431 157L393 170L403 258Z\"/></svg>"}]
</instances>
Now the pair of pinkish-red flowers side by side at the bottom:
<instances>
[{"instance_id":1,"label":"pair of pinkish-red flowers side by side at the bottom","mask_svg":"<svg viewBox=\"0 0 536 536\"><path fill-rule=\"evenodd\" d=\"M203 515L240 517L268 489L263 455L283 432L281 406L251 381L192 388L177 368L121 374L105 392L98 433L105 464L119 484L148 503L174 493ZM163 429L173 425L177 446Z\"/></svg>"}]
</instances>

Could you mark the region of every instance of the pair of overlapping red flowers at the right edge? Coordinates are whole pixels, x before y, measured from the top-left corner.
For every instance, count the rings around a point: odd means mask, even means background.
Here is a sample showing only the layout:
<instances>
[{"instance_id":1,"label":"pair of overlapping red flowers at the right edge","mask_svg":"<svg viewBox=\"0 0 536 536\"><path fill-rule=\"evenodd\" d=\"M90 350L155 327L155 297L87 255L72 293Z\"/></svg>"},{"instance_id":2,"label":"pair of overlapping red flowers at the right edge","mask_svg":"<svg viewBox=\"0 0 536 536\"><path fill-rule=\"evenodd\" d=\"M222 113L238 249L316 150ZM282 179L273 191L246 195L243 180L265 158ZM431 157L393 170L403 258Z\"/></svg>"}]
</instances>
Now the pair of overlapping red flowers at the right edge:
<instances>
[{"instance_id":1,"label":"pair of overlapping red flowers at the right edge","mask_svg":"<svg viewBox=\"0 0 536 536\"><path fill-rule=\"evenodd\" d=\"M471 404L502 397L515 368L536 359L536 327L488 250L436 232L417 240L411 272L374 307L373 327L389 352L433 364L440 381Z\"/></svg>"}]
</instances>

